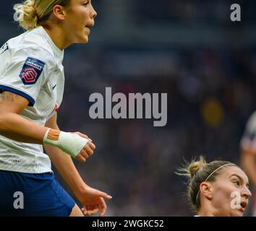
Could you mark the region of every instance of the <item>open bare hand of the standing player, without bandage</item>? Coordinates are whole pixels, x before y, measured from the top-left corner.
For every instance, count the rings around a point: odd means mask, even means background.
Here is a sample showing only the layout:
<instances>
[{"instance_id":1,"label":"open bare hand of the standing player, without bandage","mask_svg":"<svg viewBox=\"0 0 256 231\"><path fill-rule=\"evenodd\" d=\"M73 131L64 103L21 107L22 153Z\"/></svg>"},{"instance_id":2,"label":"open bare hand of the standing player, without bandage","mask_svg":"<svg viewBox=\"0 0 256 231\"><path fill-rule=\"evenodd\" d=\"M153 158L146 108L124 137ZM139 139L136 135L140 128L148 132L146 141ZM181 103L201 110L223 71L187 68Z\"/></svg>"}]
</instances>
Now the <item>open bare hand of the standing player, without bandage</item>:
<instances>
[{"instance_id":1,"label":"open bare hand of the standing player, without bandage","mask_svg":"<svg viewBox=\"0 0 256 231\"><path fill-rule=\"evenodd\" d=\"M100 217L103 217L106 213L107 206L104 199L112 199L107 193L98 191L90 186L85 186L85 188L77 196L77 199L83 204L82 212L85 215L93 215L100 212Z\"/></svg>"}]
</instances>

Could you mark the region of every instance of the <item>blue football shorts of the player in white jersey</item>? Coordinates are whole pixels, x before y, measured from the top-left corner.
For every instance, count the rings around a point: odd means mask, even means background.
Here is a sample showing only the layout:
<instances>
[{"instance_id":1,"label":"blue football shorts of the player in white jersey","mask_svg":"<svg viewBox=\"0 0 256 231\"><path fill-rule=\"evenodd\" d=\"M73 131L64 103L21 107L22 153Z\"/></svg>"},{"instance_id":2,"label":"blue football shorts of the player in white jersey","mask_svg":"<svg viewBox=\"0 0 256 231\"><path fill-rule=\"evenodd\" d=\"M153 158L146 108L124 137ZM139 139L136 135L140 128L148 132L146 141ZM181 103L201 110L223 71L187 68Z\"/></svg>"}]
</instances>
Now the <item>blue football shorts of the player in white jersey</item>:
<instances>
[{"instance_id":1,"label":"blue football shorts of the player in white jersey","mask_svg":"<svg viewBox=\"0 0 256 231\"><path fill-rule=\"evenodd\" d=\"M74 205L54 173L0 170L1 217L68 217Z\"/></svg>"}]
</instances>

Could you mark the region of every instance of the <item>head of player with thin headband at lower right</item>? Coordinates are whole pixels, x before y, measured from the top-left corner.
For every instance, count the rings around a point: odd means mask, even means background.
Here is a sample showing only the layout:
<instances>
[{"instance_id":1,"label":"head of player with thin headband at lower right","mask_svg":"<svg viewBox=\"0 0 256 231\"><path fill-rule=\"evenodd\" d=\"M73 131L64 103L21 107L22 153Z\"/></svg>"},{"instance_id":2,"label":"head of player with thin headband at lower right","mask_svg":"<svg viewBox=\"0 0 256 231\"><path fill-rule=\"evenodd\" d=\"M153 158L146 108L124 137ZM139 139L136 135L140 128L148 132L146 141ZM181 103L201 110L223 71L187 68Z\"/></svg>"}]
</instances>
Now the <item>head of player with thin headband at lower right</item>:
<instances>
[{"instance_id":1,"label":"head of player with thin headband at lower right","mask_svg":"<svg viewBox=\"0 0 256 231\"><path fill-rule=\"evenodd\" d=\"M197 216L240 217L244 214L249 196L248 178L237 165L216 160L191 162L181 169L179 175L186 175L188 197Z\"/></svg>"}]
</instances>

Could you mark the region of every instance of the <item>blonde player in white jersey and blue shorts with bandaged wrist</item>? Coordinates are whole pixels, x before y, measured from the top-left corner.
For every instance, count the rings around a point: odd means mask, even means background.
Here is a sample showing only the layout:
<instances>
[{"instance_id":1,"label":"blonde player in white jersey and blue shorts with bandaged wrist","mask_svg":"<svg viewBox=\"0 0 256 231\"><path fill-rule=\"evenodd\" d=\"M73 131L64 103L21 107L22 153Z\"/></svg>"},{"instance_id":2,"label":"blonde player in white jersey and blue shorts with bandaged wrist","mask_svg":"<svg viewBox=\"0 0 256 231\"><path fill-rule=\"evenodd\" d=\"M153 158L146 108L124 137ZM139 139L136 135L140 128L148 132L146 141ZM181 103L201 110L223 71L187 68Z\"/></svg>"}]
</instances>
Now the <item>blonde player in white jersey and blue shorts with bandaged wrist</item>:
<instances>
[{"instance_id":1,"label":"blonde player in white jersey and blue shorts with bandaged wrist","mask_svg":"<svg viewBox=\"0 0 256 231\"><path fill-rule=\"evenodd\" d=\"M103 216L111 196L90 188L71 158L85 162L95 144L57 126L64 49L88 43L96 12L90 0L28 0L17 12L27 32L0 50L0 215ZM82 211L55 180L51 162Z\"/></svg>"}]
</instances>

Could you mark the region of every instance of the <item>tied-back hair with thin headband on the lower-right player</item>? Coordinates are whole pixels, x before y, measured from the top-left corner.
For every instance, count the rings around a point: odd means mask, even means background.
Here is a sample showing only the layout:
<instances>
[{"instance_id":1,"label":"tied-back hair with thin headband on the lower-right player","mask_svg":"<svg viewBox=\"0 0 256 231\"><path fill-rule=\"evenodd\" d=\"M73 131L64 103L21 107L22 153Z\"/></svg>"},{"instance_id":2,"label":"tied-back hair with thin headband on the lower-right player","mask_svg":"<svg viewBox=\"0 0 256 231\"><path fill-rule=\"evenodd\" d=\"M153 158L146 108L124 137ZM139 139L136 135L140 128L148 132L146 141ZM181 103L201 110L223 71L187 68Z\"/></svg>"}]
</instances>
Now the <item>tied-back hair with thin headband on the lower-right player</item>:
<instances>
[{"instance_id":1,"label":"tied-back hair with thin headband on the lower-right player","mask_svg":"<svg viewBox=\"0 0 256 231\"><path fill-rule=\"evenodd\" d=\"M187 181L187 196L193 208L198 211L200 208L200 184L208 181L213 182L216 176L221 173L224 167L234 165L231 162L215 160L207 163L205 158L200 156L199 160L187 162L182 168L176 172L177 175L184 175L188 178Z\"/></svg>"}]
</instances>

